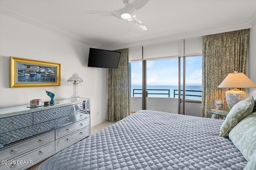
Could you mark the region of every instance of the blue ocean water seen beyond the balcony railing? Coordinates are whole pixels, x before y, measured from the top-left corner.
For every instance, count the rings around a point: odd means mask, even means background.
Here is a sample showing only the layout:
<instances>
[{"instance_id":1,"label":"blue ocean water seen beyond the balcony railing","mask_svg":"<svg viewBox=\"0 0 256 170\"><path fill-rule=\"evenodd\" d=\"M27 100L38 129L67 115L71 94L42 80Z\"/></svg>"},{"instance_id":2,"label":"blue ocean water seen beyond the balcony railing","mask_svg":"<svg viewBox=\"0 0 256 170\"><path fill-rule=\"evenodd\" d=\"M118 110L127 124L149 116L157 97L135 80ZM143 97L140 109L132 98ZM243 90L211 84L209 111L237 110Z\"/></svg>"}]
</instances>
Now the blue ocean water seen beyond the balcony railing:
<instances>
[{"instance_id":1,"label":"blue ocean water seen beyond the balcony railing","mask_svg":"<svg viewBox=\"0 0 256 170\"><path fill-rule=\"evenodd\" d=\"M181 85L181 90L183 86ZM147 85L148 97L172 97L178 98L178 85ZM176 91L174 91L176 90ZM191 91L189 91L191 90ZM140 94L134 94L140 93ZM162 94L159 94L162 93ZM176 95L174 95L174 93ZM181 94L183 92L181 91ZM142 84L131 85L131 96L142 97ZM182 96L181 96L182 98ZM202 100L202 85L189 84L186 85L186 99L189 100Z\"/></svg>"}]
</instances>

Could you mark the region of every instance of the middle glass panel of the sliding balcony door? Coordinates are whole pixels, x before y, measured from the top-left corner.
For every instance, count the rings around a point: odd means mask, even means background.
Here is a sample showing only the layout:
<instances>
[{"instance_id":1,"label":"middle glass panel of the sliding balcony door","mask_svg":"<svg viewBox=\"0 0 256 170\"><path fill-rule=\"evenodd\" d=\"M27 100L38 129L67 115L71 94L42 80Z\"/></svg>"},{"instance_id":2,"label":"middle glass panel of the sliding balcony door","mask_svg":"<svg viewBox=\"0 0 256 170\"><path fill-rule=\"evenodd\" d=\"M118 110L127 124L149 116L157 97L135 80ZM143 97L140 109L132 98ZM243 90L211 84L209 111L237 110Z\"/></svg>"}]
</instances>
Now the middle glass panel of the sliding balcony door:
<instances>
[{"instance_id":1,"label":"middle glass panel of the sliding balcony door","mask_svg":"<svg viewBox=\"0 0 256 170\"><path fill-rule=\"evenodd\" d=\"M178 58L146 61L146 109L178 113Z\"/></svg>"}]
</instances>

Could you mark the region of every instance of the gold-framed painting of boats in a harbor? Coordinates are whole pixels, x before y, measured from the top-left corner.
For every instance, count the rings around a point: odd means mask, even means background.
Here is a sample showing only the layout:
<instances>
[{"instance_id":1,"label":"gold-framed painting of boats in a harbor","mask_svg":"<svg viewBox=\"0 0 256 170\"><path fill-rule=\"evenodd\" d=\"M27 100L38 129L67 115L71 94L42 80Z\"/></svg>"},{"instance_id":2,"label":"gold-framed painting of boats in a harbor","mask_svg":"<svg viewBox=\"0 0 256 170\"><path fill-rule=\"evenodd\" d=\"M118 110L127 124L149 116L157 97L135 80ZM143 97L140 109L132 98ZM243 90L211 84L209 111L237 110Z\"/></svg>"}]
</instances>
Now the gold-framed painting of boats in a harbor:
<instances>
[{"instance_id":1,"label":"gold-framed painting of boats in a harbor","mask_svg":"<svg viewBox=\"0 0 256 170\"><path fill-rule=\"evenodd\" d=\"M10 88L60 86L60 63L10 57Z\"/></svg>"}]
</instances>

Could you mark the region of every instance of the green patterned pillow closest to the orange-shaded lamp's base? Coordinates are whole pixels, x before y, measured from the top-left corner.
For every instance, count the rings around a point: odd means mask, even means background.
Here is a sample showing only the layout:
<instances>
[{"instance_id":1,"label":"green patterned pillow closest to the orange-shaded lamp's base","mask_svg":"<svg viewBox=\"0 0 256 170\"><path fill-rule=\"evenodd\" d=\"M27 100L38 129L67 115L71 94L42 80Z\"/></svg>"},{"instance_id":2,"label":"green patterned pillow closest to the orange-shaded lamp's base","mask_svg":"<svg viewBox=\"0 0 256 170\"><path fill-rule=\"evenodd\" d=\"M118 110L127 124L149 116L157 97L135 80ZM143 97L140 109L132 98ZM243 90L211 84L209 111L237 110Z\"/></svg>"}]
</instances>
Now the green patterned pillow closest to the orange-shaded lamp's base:
<instances>
[{"instance_id":1,"label":"green patterned pillow closest to the orange-shaded lamp's base","mask_svg":"<svg viewBox=\"0 0 256 170\"><path fill-rule=\"evenodd\" d=\"M236 103L236 105L232 107L225 121L222 123L220 127L220 136L228 137L228 134L232 130L232 128L235 127L236 124L238 124L240 121L242 121L244 117L252 113L253 107L253 96Z\"/></svg>"}]
</instances>

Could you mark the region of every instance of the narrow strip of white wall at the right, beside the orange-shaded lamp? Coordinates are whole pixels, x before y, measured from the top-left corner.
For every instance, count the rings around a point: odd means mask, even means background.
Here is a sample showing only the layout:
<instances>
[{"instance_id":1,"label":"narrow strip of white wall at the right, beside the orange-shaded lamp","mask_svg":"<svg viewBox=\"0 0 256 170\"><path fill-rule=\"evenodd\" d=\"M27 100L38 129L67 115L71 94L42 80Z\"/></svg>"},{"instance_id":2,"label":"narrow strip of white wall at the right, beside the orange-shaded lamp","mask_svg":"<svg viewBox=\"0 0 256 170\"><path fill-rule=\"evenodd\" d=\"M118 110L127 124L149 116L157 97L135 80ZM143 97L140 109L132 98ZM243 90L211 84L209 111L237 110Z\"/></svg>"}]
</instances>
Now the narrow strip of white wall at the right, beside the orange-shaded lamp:
<instances>
[{"instance_id":1,"label":"narrow strip of white wall at the right, beside the orange-shaded lamp","mask_svg":"<svg viewBox=\"0 0 256 170\"><path fill-rule=\"evenodd\" d=\"M250 29L248 51L248 77L256 84L256 24ZM256 88L250 88L247 96L256 95Z\"/></svg>"}]
</instances>

